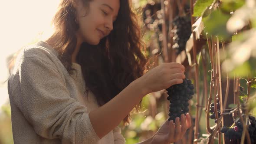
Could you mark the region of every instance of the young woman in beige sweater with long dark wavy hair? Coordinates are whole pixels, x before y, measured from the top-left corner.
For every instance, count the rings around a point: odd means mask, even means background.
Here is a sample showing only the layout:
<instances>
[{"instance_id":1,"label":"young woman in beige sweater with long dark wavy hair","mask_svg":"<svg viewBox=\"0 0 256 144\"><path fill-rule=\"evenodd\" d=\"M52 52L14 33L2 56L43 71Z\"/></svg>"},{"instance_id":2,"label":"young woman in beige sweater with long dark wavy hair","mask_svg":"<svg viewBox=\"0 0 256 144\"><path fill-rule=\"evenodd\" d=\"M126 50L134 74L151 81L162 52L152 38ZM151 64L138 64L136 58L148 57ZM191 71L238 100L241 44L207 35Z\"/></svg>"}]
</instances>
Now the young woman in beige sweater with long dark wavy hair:
<instances>
[{"instance_id":1,"label":"young woman in beige sweater with long dark wavy hair","mask_svg":"<svg viewBox=\"0 0 256 144\"><path fill-rule=\"evenodd\" d=\"M14 143L124 144L118 124L144 95L180 84L184 66L145 73L138 18L129 0L60 0L55 32L26 46L8 80ZM166 121L141 144L169 144L190 116Z\"/></svg>"}]
</instances>

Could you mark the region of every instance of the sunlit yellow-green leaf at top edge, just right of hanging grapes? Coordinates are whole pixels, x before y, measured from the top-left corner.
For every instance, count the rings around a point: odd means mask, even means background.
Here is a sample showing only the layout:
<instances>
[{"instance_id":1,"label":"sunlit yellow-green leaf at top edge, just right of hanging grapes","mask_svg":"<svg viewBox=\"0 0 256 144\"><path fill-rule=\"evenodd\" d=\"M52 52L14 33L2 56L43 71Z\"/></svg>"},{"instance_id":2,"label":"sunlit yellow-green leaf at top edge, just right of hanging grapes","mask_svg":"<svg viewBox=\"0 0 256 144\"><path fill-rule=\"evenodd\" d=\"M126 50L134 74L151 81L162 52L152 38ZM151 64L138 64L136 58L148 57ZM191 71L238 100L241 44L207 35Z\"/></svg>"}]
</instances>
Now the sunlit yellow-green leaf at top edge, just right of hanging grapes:
<instances>
[{"instance_id":1,"label":"sunlit yellow-green leaf at top edge, just right of hanging grapes","mask_svg":"<svg viewBox=\"0 0 256 144\"><path fill-rule=\"evenodd\" d=\"M209 7L214 0L197 0L194 6L193 16L201 16L203 11Z\"/></svg>"}]
</instances>

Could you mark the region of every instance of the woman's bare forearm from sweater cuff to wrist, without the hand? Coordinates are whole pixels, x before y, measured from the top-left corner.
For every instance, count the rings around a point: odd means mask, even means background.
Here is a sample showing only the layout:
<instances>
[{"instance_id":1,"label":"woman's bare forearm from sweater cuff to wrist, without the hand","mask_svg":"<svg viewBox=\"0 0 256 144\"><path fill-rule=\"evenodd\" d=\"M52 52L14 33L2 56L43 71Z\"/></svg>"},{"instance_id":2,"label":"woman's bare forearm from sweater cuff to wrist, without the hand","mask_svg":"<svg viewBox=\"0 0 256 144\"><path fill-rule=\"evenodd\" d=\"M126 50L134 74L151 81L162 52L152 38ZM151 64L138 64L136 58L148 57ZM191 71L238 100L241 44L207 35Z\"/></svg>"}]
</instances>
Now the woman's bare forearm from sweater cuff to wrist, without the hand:
<instances>
[{"instance_id":1,"label":"woman's bare forearm from sweater cuff to wrist, without the hand","mask_svg":"<svg viewBox=\"0 0 256 144\"><path fill-rule=\"evenodd\" d=\"M98 137L104 137L118 126L146 94L140 81L135 80L105 105L91 111L89 118Z\"/></svg>"}]
</instances>

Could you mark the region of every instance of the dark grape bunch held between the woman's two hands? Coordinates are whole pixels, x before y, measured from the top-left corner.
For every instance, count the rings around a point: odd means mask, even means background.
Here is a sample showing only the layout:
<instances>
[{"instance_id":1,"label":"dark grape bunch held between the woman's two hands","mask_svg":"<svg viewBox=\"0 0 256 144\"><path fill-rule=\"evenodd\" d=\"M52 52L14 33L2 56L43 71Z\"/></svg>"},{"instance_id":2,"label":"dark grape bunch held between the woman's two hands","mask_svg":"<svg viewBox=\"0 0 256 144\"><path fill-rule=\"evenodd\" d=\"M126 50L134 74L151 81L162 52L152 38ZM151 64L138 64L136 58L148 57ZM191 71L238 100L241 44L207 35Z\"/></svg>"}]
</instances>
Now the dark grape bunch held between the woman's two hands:
<instances>
[{"instance_id":1,"label":"dark grape bunch held between the woman's two hands","mask_svg":"<svg viewBox=\"0 0 256 144\"><path fill-rule=\"evenodd\" d=\"M185 78L182 84L172 85L167 88L167 100L170 101L168 121L174 120L176 117L181 117L181 114L186 114L188 109L188 101L194 95L194 85L190 79Z\"/></svg>"}]
</instances>

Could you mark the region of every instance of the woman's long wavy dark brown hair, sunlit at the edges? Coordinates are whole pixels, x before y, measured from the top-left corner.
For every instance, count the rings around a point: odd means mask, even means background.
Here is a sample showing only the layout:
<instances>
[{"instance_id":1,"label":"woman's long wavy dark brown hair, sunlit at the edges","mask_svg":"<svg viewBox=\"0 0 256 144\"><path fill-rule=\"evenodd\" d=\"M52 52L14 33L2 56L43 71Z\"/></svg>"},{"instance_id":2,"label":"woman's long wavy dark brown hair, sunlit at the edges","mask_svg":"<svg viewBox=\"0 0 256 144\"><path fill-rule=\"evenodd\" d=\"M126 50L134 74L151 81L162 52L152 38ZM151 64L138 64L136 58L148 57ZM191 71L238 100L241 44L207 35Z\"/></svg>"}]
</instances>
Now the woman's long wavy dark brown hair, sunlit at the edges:
<instances>
[{"instance_id":1,"label":"woman's long wavy dark brown hair, sunlit at the edges","mask_svg":"<svg viewBox=\"0 0 256 144\"><path fill-rule=\"evenodd\" d=\"M90 0L83 0L85 7L89 8L89 2ZM79 28L75 23L75 13L71 0L61 0L53 18L56 31L47 42L59 52L59 59L70 74L73 72L71 56L77 42L75 33ZM129 0L120 0L112 32L101 39L97 46L88 43L81 45L76 60L82 67L86 92L91 91L100 106L118 95L147 70L148 61L142 53L145 45L140 20L138 14L131 9ZM140 107L141 101L135 108L138 111ZM124 125L130 123L130 115L131 113L123 119Z\"/></svg>"}]
</instances>

